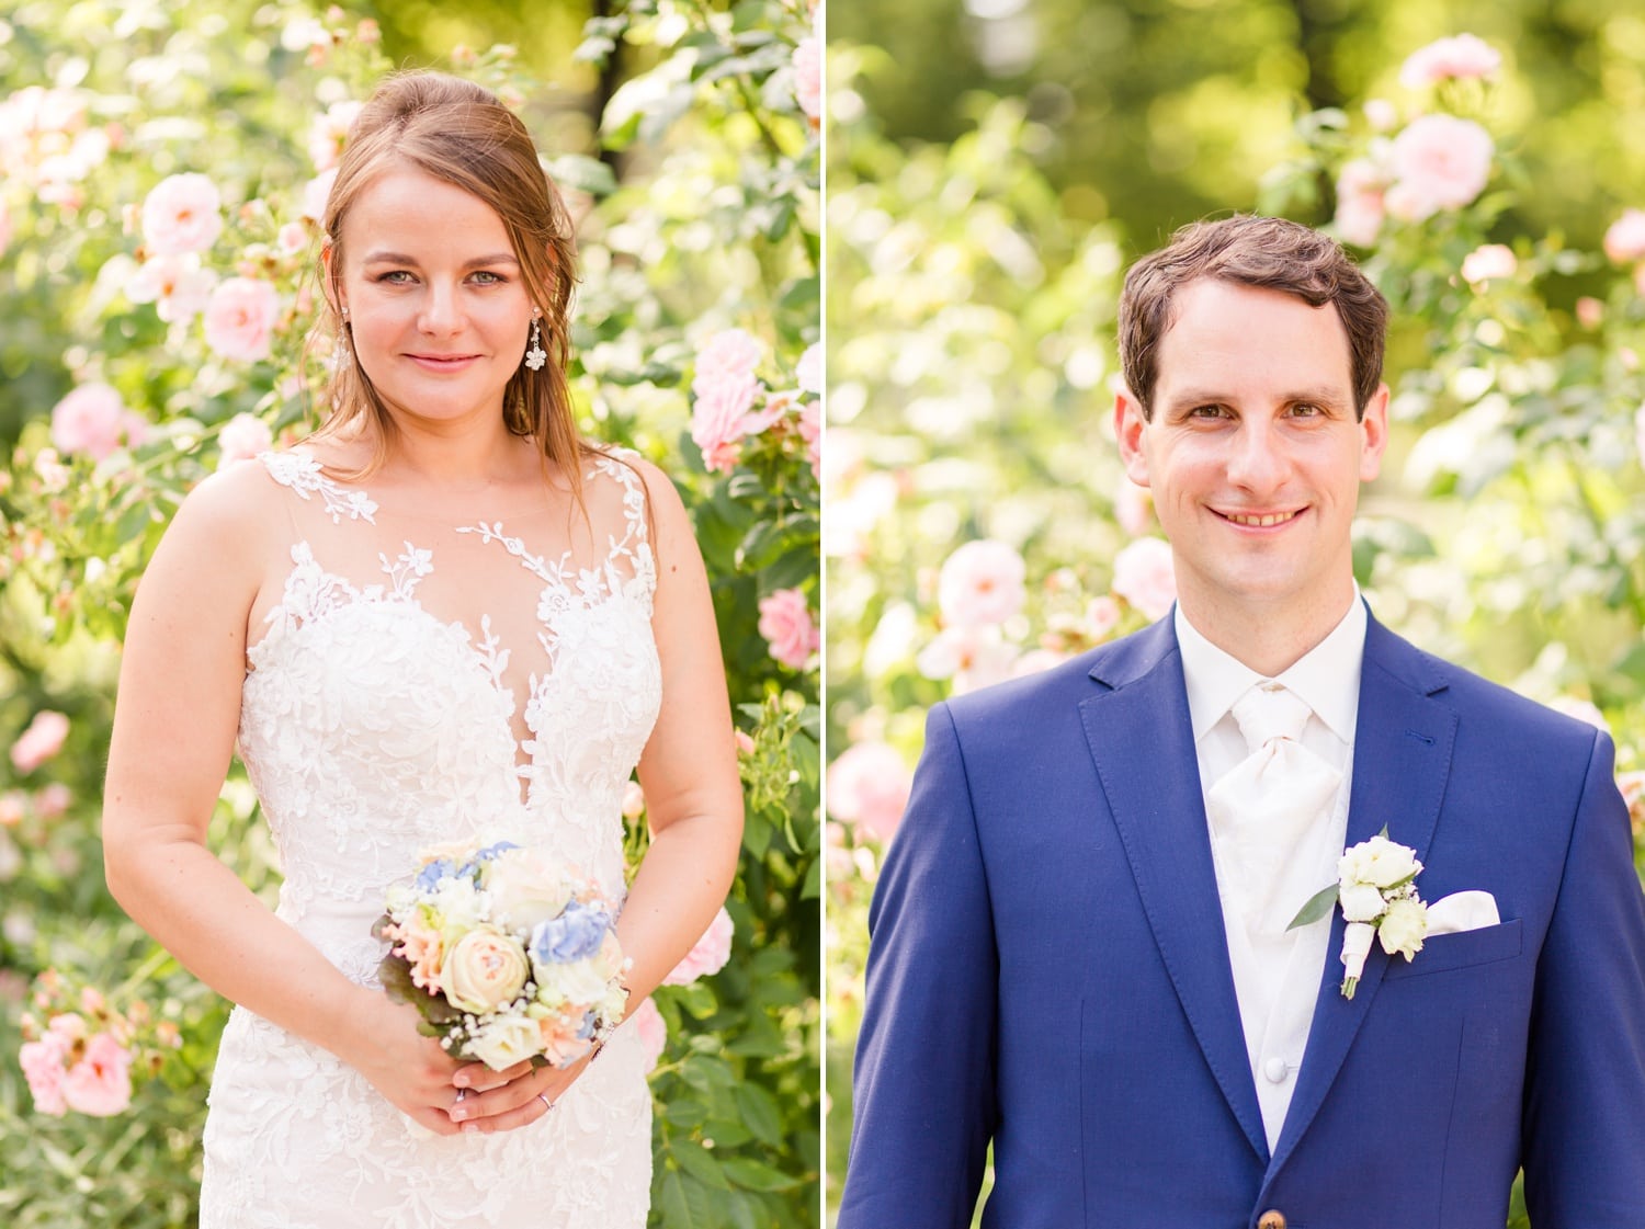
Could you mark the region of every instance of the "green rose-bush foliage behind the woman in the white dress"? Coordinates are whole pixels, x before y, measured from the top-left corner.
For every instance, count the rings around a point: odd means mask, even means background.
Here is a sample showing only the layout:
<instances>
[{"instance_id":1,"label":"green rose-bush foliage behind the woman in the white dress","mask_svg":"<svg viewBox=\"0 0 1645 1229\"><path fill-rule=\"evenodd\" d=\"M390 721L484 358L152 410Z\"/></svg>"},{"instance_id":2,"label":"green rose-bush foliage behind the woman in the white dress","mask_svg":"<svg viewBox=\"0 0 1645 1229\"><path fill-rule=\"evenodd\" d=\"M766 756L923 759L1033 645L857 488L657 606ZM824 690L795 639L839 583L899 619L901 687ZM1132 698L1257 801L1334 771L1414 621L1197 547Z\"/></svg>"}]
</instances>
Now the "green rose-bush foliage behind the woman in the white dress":
<instances>
[{"instance_id":1,"label":"green rose-bush foliage behind the woman in the white dress","mask_svg":"<svg viewBox=\"0 0 1645 1229\"><path fill-rule=\"evenodd\" d=\"M390 63L359 16L286 0L86 0L13 5L0 21L0 102L48 87L69 114L66 137L44 132L23 155L7 153L16 146L0 133L0 155L20 158L0 188L0 740L41 711L69 722L56 755L28 770L0 765L7 1224L194 1219L204 1091L227 1012L155 958L104 887L104 745L137 577L183 495L219 464L224 428L248 415L290 441L316 421L306 390L329 355L324 341L306 341L317 252L313 222L299 222L314 174L306 146L326 109L364 99ZM760 599L775 591L798 589L813 609L819 599L818 480L801 424L816 390L786 392L819 339L819 141L791 64L809 33L798 0L734 10L637 0L584 30L591 71L607 58L620 67L597 145L543 141L579 214L574 401L594 438L673 475L702 545L748 744L732 961L655 995L670 1030L651 1081L660 1226L816 1222L818 675L773 660L757 630ZM510 48L451 59L528 125L538 117L559 130L564 102ZM95 133L84 166L41 168L82 133ZM197 318L166 322L127 293L143 258L137 211L160 179L189 171L224 201L206 268L275 286L266 359L227 359ZM704 339L730 327L765 355L776 421L711 471L689 436L689 378ZM53 408L89 382L140 420L128 446L102 459L51 438ZM211 842L273 900L275 859L239 767ZM645 842L635 828L630 854ZM49 1119L30 1107L13 1056L25 1027L44 1023L25 1020L44 1012L30 990L44 971L176 1028L179 1048L160 1078L138 1083L127 1112Z\"/></svg>"}]
</instances>

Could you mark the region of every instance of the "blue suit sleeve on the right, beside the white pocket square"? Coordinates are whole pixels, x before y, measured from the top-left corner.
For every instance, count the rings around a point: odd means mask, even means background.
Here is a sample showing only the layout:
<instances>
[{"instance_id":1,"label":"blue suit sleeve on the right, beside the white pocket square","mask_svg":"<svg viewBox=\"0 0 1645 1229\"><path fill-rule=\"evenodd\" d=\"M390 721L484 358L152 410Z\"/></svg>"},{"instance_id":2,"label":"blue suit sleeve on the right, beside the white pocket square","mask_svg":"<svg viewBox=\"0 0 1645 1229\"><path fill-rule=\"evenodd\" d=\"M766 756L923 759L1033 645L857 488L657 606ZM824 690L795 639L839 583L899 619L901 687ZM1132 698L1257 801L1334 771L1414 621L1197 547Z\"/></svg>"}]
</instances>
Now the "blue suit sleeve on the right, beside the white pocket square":
<instances>
[{"instance_id":1,"label":"blue suit sleeve on the right, beside the white pocket square","mask_svg":"<svg viewBox=\"0 0 1645 1229\"><path fill-rule=\"evenodd\" d=\"M1645 893L1604 734L1536 969L1522 1160L1535 1229L1645 1224Z\"/></svg>"}]
</instances>

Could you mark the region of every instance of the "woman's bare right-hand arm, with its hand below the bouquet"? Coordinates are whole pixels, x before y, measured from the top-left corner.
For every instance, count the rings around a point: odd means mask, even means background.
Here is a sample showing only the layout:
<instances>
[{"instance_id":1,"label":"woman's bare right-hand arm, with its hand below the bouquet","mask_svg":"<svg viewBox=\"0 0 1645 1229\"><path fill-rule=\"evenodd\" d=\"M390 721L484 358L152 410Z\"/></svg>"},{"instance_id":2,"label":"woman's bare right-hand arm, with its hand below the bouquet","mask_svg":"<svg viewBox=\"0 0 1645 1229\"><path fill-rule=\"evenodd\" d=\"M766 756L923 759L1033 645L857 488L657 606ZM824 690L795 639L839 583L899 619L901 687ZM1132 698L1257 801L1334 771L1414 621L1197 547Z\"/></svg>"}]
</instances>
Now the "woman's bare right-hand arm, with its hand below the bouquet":
<instances>
[{"instance_id":1,"label":"woman's bare right-hand arm, with its hand below the bouquet","mask_svg":"<svg viewBox=\"0 0 1645 1229\"><path fill-rule=\"evenodd\" d=\"M653 466L638 467L656 530L651 633L663 707L640 757L651 844L617 923L623 954L633 961L625 976L630 1012L702 938L730 890L742 847L737 739L702 554L673 484ZM528 1125L543 1114L538 1096L558 1101L586 1064L510 1068L502 1074L512 1083L461 1112L480 1117L470 1129L485 1132ZM484 1074L482 1066L466 1066L457 1081Z\"/></svg>"}]
</instances>

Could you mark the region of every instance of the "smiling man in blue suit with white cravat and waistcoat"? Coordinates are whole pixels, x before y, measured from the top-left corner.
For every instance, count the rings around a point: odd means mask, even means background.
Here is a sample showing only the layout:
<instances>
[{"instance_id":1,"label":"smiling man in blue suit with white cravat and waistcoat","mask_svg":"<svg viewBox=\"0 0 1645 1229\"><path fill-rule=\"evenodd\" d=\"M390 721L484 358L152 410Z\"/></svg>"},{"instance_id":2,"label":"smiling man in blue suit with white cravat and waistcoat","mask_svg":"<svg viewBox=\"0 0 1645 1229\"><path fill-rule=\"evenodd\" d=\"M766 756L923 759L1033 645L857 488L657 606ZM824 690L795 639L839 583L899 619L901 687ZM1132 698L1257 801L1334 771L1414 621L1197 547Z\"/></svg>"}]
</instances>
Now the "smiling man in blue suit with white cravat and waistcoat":
<instances>
[{"instance_id":1,"label":"smiling man in blue suit with white cravat and waistcoat","mask_svg":"<svg viewBox=\"0 0 1645 1229\"><path fill-rule=\"evenodd\" d=\"M990 1142L992 1229L1502 1229L1522 1166L1535 1229L1645 1226L1610 740L1418 652L1354 584L1385 324L1283 220L1130 270L1115 424L1178 607L931 712L870 915L839 1229L964 1229ZM1288 923L1382 829L1430 928L1410 959L1374 943L1347 997L1342 910Z\"/></svg>"}]
</instances>

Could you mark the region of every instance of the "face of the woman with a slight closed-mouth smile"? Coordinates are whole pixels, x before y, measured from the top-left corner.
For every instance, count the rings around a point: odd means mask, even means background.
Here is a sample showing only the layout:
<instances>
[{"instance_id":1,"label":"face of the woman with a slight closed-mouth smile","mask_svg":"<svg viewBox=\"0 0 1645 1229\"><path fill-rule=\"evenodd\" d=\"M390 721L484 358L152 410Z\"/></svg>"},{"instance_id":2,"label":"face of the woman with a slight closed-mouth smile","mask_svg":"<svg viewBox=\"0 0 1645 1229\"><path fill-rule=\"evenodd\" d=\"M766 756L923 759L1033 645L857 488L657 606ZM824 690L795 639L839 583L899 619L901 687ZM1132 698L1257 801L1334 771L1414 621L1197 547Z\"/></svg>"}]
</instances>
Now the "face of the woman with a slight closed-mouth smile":
<instances>
[{"instance_id":1,"label":"face of the woman with a slight closed-mouth smile","mask_svg":"<svg viewBox=\"0 0 1645 1229\"><path fill-rule=\"evenodd\" d=\"M354 355L396 415L502 421L531 299L497 212L416 169L372 181L342 220Z\"/></svg>"}]
</instances>

